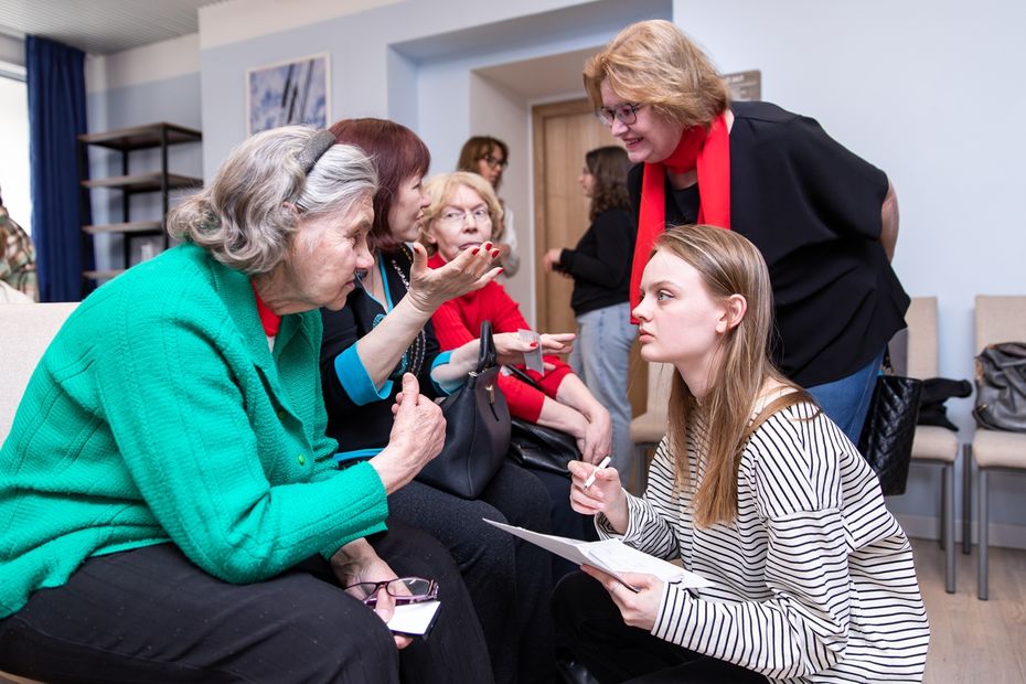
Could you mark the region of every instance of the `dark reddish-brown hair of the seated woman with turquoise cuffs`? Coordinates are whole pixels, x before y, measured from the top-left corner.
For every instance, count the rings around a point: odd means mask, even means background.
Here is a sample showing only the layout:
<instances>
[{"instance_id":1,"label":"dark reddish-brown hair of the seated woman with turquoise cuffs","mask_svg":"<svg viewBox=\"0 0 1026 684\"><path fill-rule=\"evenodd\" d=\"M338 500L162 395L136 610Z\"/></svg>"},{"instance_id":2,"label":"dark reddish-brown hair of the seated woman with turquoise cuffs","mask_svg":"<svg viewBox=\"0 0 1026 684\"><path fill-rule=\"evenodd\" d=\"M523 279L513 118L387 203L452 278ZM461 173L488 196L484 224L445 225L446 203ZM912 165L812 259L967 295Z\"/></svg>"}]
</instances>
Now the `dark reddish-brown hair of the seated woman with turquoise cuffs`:
<instances>
[{"instance_id":1,"label":"dark reddish-brown hair of the seated woman with turquoise cuffs","mask_svg":"<svg viewBox=\"0 0 1026 684\"><path fill-rule=\"evenodd\" d=\"M392 236L388 212L399 185L412 175L425 175L431 153L417 133L387 119L342 119L329 128L339 142L355 145L371 156L381 186L374 195L374 224L367 235L371 252L391 254L403 245Z\"/></svg>"}]
</instances>

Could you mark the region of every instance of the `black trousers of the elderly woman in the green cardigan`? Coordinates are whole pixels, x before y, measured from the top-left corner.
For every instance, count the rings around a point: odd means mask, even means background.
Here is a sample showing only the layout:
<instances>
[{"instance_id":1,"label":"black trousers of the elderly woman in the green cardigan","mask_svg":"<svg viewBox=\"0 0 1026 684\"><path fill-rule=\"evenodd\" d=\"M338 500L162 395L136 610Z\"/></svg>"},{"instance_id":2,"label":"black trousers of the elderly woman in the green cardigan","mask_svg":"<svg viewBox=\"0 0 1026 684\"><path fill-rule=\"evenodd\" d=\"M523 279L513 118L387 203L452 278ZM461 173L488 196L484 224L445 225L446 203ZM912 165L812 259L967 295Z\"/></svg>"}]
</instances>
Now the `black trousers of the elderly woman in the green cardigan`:
<instances>
[{"instance_id":1,"label":"black trousers of the elderly woman in the green cardigan","mask_svg":"<svg viewBox=\"0 0 1026 684\"><path fill-rule=\"evenodd\" d=\"M389 523L370 537L399 575L439 584L426 640L399 651L320 557L231 585L173 544L88 559L0 621L0 669L61 682L489 682L480 624L438 542Z\"/></svg>"}]
</instances>

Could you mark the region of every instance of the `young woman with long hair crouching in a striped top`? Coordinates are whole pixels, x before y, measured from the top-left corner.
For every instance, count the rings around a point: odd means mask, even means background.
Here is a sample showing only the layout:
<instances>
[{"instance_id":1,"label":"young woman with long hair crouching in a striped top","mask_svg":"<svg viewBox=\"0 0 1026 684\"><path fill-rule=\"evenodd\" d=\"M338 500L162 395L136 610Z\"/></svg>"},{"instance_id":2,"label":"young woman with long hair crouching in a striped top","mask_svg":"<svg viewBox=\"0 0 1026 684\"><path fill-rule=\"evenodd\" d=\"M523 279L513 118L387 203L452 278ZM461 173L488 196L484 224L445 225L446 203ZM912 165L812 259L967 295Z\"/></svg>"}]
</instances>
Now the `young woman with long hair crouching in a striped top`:
<instances>
[{"instance_id":1,"label":"young woman with long hair crouching in a striped top","mask_svg":"<svg viewBox=\"0 0 1026 684\"><path fill-rule=\"evenodd\" d=\"M759 250L672 228L641 296L642 357L677 371L667 436L642 498L616 469L574 462L570 501L602 536L712 586L624 574L635 592L586 566L556 588L557 630L600 682L920 681L929 626L911 548L858 451L767 355Z\"/></svg>"}]
</instances>

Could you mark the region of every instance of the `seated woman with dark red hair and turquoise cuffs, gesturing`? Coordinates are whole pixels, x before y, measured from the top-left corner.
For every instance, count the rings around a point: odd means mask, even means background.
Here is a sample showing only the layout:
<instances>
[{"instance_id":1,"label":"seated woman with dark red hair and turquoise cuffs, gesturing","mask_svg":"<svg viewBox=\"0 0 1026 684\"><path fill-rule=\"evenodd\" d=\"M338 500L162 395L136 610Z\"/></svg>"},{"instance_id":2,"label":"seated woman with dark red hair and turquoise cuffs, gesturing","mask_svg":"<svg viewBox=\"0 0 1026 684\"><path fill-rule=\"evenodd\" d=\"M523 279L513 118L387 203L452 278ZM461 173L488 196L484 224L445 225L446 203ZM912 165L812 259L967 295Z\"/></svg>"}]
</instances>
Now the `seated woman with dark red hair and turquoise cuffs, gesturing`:
<instances>
[{"instance_id":1,"label":"seated woman with dark red hair and turquoise cuffs, gesturing","mask_svg":"<svg viewBox=\"0 0 1026 684\"><path fill-rule=\"evenodd\" d=\"M367 242L372 263L340 311L322 309L321 378L328 435L343 440L341 468L360 468L388 443L392 406L404 374L425 396L457 388L477 365L480 344L439 348L431 314L453 297L488 287L499 272L491 242L463 249L443 268L429 268L415 241L428 196L421 178L430 164L424 141L385 119L345 119L331 127L339 142L357 146L381 178ZM573 335L546 340L553 351ZM530 342L515 331L494 335L503 363L523 362ZM519 545L483 519L549 530L548 495L531 473L509 461L477 500L414 480L388 495L391 520L416 526L452 555L484 631L496 682L545 681L555 669L547 597L549 555ZM445 598L442 598L445 602Z\"/></svg>"}]
</instances>

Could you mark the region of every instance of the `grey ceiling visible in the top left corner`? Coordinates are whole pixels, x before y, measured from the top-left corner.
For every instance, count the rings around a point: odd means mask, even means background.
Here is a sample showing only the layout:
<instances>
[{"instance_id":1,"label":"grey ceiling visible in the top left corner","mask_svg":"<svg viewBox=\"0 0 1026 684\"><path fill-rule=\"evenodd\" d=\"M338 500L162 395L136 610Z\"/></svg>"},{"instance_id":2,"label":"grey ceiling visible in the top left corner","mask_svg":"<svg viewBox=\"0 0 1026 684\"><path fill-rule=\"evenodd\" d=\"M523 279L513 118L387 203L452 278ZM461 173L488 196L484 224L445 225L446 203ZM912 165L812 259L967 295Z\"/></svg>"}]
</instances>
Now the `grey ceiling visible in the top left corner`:
<instances>
[{"instance_id":1,"label":"grey ceiling visible in the top left corner","mask_svg":"<svg viewBox=\"0 0 1026 684\"><path fill-rule=\"evenodd\" d=\"M0 33L41 35L104 55L195 33L224 0L0 0Z\"/></svg>"}]
</instances>

